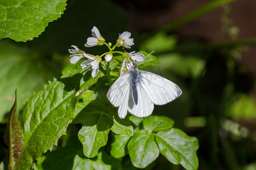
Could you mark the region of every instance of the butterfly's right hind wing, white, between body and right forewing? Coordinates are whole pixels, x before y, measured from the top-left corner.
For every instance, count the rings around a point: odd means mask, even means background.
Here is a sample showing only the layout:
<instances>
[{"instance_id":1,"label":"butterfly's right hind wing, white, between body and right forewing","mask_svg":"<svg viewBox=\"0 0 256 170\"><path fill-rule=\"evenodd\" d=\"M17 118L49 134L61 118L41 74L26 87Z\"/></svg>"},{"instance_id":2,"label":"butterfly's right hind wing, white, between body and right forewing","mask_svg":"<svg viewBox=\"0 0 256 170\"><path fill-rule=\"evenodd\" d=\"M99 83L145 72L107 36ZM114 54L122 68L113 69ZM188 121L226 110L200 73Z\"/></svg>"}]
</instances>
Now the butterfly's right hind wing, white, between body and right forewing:
<instances>
[{"instance_id":1,"label":"butterfly's right hind wing, white, between body and right forewing","mask_svg":"<svg viewBox=\"0 0 256 170\"><path fill-rule=\"evenodd\" d=\"M152 114L154 104L150 100L150 97L147 95L147 92L144 90L140 82L137 83L136 88L138 94L138 103L137 105L134 104L133 97L130 93L128 111L137 117L147 117Z\"/></svg>"}]
</instances>

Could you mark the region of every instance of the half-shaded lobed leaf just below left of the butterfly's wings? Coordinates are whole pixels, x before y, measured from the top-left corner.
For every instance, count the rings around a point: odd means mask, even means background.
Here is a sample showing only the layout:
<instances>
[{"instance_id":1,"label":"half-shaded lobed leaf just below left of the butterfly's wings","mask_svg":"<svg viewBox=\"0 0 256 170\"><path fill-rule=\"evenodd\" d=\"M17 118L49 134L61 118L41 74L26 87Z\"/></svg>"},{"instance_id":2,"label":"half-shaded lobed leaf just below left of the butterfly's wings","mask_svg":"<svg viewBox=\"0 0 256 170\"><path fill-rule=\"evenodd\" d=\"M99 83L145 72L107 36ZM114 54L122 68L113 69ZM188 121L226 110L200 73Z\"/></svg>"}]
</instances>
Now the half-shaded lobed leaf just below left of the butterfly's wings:
<instances>
[{"instance_id":1,"label":"half-shaded lobed leaf just below left of the butterfly's wings","mask_svg":"<svg viewBox=\"0 0 256 170\"><path fill-rule=\"evenodd\" d=\"M88 158L96 156L100 147L106 145L110 129L117 134L133 133L129 118L121 120L117 116L117 109L109 105L105 95L98 95L96 100L82 109L72 121L73 124L82 123L79 139L84 155Z\"/></svg>"}]
</instances>

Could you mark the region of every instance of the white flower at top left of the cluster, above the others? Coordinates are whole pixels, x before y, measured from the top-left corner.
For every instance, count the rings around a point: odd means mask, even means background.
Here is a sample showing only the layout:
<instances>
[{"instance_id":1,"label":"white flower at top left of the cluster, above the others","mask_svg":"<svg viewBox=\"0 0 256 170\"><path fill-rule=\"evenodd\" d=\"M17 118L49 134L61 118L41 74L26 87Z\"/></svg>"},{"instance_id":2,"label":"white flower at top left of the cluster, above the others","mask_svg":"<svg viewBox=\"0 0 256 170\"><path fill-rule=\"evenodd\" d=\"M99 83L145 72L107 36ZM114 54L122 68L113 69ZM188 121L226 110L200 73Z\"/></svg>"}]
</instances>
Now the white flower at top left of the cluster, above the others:
<instances>
[{"instance_id":1,"label":"white flower at top left of the cluster, above the others","mask_svg":"<svg viewBox=\"0 0 256 170\"><path fill-rule=\"evenodd\" d=\"M96 45L103 45L103 42L105 42L105 39L101 36L100 31L98 31L98 28L93 26L92 37L89 37L87 39L86 44L84 46L91 47Z\"/></svg>"}]
</instances>

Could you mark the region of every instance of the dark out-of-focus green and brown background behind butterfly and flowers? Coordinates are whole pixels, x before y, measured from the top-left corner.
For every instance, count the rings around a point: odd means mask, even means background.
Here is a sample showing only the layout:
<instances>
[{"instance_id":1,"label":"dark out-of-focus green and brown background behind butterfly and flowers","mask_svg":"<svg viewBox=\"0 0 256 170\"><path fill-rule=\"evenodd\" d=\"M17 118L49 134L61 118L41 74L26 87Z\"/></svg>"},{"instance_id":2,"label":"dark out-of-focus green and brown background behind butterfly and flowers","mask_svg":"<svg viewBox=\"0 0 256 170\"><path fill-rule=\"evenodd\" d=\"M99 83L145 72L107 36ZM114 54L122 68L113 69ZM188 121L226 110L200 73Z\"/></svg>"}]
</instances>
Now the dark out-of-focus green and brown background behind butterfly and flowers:
<instances>
[{"instance_id":1,"label":"dark out-of-focus green and brown background behind butterfly and flowers","mask_svg":"<svg viewBox=\"0 0 256 170\"><path fill-rule=\"evenodd\" d=\"M95 25L106 42L114 44L118 33L130 31L135 42L131 51L155 51L159 64L147 70L178 84L183 95L155 107L153 114L174 119L176 128L199 139L199 169L256 169L256 3L237 0L213 7L218 2L72 0L67 1L61 18L49 23L34 40L1 40L0 57L26 58L13 62L10 70L20 63L28 70L21 74L21 67L13 76L2 74L15 80L5 82L9 90L0 98L5 105L0 114L1 134L15 87L21 97L20 110L33 90L61 75L71 45L92 54L105 52L105 46L84 47ZM35 65L32 70L31 65ZM6 88L2 85L1 89ZM2 160L4 150L0 153ZM182 167L160 156L146 169Z\"/></svg>"}]
</instances>

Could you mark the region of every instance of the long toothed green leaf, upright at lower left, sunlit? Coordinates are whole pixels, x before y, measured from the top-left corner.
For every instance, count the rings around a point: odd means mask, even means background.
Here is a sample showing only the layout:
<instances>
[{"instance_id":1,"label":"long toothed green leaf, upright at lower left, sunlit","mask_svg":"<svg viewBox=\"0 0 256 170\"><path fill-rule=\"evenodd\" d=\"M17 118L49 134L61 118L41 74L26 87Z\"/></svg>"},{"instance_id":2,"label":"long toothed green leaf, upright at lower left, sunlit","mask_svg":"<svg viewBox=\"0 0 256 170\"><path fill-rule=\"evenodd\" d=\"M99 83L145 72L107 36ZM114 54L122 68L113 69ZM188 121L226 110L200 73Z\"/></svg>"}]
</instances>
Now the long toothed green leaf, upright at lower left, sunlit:
<instances>
[{"instance_id":1,"label":"long toothed green leaf, upright at lower left, sunlit","mask_svg":"<svg viewBox=\"0 0 256 170\"><path fill-rule=\"evenodd\" d=\"M51 150L75 116L78 97L75 90L66 91L65 84L54 79L27 101L20 115L24 152L18 169L30 169L34 160Z\"/></svg>"}]
</instances>

